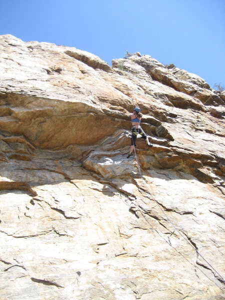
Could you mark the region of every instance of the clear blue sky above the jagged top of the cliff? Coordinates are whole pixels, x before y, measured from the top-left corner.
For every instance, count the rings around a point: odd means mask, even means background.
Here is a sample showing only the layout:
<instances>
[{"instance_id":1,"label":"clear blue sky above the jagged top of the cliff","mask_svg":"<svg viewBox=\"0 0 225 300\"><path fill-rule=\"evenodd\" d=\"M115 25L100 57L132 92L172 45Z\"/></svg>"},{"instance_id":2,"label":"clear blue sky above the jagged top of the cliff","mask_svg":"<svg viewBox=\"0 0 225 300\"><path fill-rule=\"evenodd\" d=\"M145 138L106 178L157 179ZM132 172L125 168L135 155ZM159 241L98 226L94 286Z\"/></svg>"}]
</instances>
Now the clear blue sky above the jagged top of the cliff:
<instances>
[{"instance_id":1,"label":"clear blue sky above the jagged top of the cliff","mask_svg":"<svg viewBox=\"0 0 225 300\"><path fill-rule=\"evenodd\" d=\"M109 64L138 51L225 85L225 0L0 0L0 34Z\"/></svg>"}]
</instances>

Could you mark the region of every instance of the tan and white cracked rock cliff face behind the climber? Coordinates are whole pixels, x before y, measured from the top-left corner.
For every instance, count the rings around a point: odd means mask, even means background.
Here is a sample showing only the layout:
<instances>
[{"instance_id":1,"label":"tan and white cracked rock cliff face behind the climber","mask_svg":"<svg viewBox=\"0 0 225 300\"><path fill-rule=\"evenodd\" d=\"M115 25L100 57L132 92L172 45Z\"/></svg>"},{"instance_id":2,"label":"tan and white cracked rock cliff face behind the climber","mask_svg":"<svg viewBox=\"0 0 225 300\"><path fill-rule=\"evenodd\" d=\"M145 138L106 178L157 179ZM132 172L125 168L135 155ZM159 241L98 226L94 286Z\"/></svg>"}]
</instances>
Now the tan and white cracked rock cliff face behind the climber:
<instances>
[{"instance_id":1,"label":"tan and white cracked rock cliff face behind the climber","mask_svg":"<svg viewBox=\"0 0 225 300\"><path fill-rule=\"evenodd\" d=\"M0 299L224 299L224 93L139 53L0 53Z\"/></svg>"}]
</instances>

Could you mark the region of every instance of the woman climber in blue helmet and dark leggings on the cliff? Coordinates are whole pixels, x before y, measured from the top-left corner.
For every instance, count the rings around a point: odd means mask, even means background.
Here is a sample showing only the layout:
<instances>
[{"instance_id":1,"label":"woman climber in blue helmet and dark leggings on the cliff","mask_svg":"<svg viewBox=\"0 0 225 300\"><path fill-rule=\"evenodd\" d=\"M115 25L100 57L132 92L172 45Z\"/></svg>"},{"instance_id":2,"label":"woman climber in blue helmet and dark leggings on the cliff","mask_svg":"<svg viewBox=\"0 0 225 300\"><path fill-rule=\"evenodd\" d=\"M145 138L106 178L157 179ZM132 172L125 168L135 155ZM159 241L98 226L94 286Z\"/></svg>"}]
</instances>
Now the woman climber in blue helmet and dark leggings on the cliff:
<instances>
[{"instance_id":1,"label":"woman climber in blue helmet and dark leggings on the cliff","mask_svg":"<svg viewBox=\"0 0 225 300\"><path fill-rule=\"evenodd\" d=\"M129 158L130 155L133 154L133 149L136 146L136 137L139 133L141 135L141 138L143 138L146 142L146 144L149 147L152 147L153 145L148 141L147 135L144 133L143 129L140 127L140 120L142 117L142 113L140 112L140 108L136 107L134 108L133 113L130 115L131 118L131 124L132 124L132 134L131 134L131 146L129 149L129 154L126 158Z\"/></svg>"}]
</instances>

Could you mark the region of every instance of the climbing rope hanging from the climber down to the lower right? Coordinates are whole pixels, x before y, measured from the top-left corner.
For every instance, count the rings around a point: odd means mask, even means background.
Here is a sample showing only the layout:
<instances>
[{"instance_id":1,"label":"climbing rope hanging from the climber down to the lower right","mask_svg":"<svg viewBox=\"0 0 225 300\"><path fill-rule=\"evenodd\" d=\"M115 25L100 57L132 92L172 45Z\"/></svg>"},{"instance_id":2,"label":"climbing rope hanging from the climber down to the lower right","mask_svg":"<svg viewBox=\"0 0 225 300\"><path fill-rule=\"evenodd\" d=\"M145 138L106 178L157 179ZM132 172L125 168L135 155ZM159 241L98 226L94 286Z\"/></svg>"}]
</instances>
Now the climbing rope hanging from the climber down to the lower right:
<instances>
[{"instance_id":1,"label":"climbing rope hanging from the climber down to the lower right","mask_svg":"<svg viewBox=\"0 0 225 300\"><path fill-rule=\"evenodd\" d=\"M132 136L132 135L131 135ZM132 136L133 139L133 136ZM172 227L174 228L174 231L176 230L180 236L194 249L194 251L211 267L211 269L214 270L214 272L220 277L218 280L220 282L222 282L223 284L225 284L225 280L224 278L216 271L216 269L201 255L201 253L198 251L197 247L194 247L193 244L180 232L179 229L176 228L176 226L174 225L174 223L169 219L169 217L167 216L167 214L165 213L165 211L161 208L161 206L159 205L159 203L157 202L157 200L155 199L155 195L153 193L150 193L148 190L148 186L146 185L146 182L143 180L143 176L141 173L141 169L140 169L140 164L136 155L136 150L135 150L135 146L133 146L134 148L134 154L135 154L135 158L136 158L136 162L137 162L137 166L138 166L138 170L139 170L139 174L140 174L140 178L141 178L141 185L145 185L145 187L147 188L147 192L148 194L152 197L152 199L154 200L154 202L157 204L157 206L159 207L159 209L162 211L162 213L165 215L166 219L169 221L169 223L172 225ZM140 185L140 186L141 186ZM139 190L140 186L137 188L137 190ZM134 194L134 192L129 196L131 197ZM128 198L129 198L128 197ZM142 211L141 211L141 207L140 206L136 206L137 209L139 210L139 212L142 214L142 216L144 217L144 219L147 221L147 219L145 218L145 216L143 215ZM147 221L148 222L148 221ZM149 222L148 222L149 223ZM149 223L150 224L150 223ZM150 224L151 225L151 224ZM152 225L151 225L152 226ZM155 228L154 228L155 229ZM158 231L155 229L155 231L158 233ZM174 233L174 231L170 234L172 235ZM161 232L162 233L162 232ZM159 234L159 233L158 233ZM160 234L159 234L160 235ZM161 236L161 235L160 235ZM162 236L161 236L162 237ZM170 242L170 239L168 238L168 241L162 237L171 247L172 244ZM174 247L173 247L174 248ZM174 248L175 249L175 248ZM175 249L176 250L176 249ZM177 251L177 250L176 250ZM179 251L177 251L179 254L181 254ZM188 262L190 262L183 254L181 254ZM191 262L190 262L191 263ZM192 263L191 263L192 264ZM193 265L193 264L192 264ZM207 278L209 278L199 267L197 267ZM209 278L210 279L210 278ZM211 280L211 279L210 279ZM213 281L214 282L214 281ZM215 282L214 282L215 283ZM216 283L215 283L216 284ZM217 284L216 284L217 285ZM218 285L217 285L218 286ZM219 287L219 286L218 286ZM220 287L219 287L220 288Z\"/></svg>"}]
</instances>

